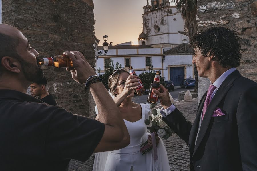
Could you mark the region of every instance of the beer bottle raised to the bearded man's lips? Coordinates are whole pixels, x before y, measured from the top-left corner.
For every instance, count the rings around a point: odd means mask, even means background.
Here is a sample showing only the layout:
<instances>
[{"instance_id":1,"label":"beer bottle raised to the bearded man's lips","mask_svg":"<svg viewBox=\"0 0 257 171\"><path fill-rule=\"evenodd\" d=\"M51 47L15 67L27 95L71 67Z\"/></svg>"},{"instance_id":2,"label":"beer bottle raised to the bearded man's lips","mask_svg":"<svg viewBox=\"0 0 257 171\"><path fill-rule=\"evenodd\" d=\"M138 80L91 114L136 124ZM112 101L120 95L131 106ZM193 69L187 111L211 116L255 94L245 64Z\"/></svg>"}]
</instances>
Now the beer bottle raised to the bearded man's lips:
<instances>
[{"instance_id":1,"label":"beer bottle raised to the bearded man's lips","mask_svg":"<svg viewBox=\"0 0 257 171\"><path fill-rule=\"evenodd\" d=\"M73 64L68 56L57 55L50 58L37 59L37 63L43 66L54 66L56 68L72 68Z\"/></svg>"}]
</instances>

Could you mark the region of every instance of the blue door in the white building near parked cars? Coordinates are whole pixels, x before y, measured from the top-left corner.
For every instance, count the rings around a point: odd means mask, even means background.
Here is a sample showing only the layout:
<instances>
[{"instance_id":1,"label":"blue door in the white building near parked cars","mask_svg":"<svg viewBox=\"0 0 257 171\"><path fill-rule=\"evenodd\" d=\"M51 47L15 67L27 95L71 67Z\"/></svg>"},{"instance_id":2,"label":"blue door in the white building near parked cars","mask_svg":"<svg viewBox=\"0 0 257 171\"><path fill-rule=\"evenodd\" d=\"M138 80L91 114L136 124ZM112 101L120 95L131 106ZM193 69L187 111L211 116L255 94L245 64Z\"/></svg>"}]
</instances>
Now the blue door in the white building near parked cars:
<instances>
[{"instance_id":1,"label":"blue door in the white building near parked cars","mask_svg":"<svg viewBox=\"0 0 257 171\"><path fill-rule=\"evenodd\" d=\"M170 80L174 86L180 86L185 77L185 67L170 67Z\"/></svg>"}]
</instances>

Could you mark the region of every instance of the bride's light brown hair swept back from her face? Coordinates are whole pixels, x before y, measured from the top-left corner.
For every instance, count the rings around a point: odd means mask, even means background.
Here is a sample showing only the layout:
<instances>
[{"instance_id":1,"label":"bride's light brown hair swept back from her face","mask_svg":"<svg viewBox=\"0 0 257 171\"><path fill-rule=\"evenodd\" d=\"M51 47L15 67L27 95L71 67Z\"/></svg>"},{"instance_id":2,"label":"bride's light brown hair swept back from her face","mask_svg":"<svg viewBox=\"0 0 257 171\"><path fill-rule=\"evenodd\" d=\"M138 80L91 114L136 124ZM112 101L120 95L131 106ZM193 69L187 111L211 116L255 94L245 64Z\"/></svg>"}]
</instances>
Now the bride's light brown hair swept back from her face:
<instances>
[{"instance_id":1,"label":"bride's light brown hair swept back from her face","mask_svg":"<svg viewBox=\"0 0 257 171\"><path fill-rule=\"evenodd\" d=\"M116 94L114 93L116 88L117 88L117 84L118 84L118 79L119 79L119 76L121 73L123 72L127 72L129 75L130 73L125 70L125 69L118 69L118 70L115 70L110 76L109 76L109 79L108 79L108 87L110 89L110 93L112 95L114 95L116 97Z\"/></svg>"}]
</instances>

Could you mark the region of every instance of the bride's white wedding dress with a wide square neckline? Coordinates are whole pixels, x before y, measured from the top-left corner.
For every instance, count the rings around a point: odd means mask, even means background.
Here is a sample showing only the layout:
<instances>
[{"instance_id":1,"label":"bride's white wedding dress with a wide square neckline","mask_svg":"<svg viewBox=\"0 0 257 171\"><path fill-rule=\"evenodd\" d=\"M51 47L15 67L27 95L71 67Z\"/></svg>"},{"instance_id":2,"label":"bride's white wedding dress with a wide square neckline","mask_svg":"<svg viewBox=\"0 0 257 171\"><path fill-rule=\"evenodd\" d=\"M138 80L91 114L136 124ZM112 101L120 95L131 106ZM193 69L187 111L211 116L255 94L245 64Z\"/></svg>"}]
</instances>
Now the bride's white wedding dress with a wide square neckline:
<instances>
[{"instance_id":1,"label":"bride's white wedding dress with a wide square neckline","mask_svg":"<svg viewBox=\"0 0 257 171\"><path fill-rule=\"evenodd\" d=\"M124 120L130 135L130 144L120 150L96 153L93 171L170 171L167 151L161 139L157 146L156 162L154 162L153 150L145 155L140 152L140 146L150 135L146 133L147 126L144 121L151 113L149 104L140 105L142 108L140 120L136 122Z\"/></svg>"}]
</instances>

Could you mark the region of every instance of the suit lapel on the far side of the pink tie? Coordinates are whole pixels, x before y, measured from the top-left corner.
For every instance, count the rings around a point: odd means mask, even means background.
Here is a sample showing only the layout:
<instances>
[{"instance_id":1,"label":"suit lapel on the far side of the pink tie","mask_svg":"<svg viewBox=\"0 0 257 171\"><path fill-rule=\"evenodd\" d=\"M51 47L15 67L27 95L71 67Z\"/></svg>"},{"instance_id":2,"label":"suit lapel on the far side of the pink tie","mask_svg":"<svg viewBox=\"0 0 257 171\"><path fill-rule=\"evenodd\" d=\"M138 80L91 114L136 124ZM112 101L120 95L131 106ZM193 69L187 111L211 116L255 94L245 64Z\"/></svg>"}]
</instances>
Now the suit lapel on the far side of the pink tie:
<instances>
[{"instance_id":1,"label":"suit lapel on the far side of the pink tie","mask_svg":"<svg viewBox=\"0 0 257 171\"><path fill-rule=\"evenodd\" d=\"M198 132L198 128L199 128L199 121L200 121L200 117L201 117L201 113L202 113L202 108L204 106L204 101L206 99L207 96L207 91L206 93L204 93L204 95L202 96L202 99L200 100L198 109L197 109L197 113L196 113L196 118L194 120L194 124L191 128L190 134L189 134L189 151L191 154L193 154L193 150L194 150L194 144L195 144L195 138L196 138L196 134Z\"/></svg>"}]
</instances>

